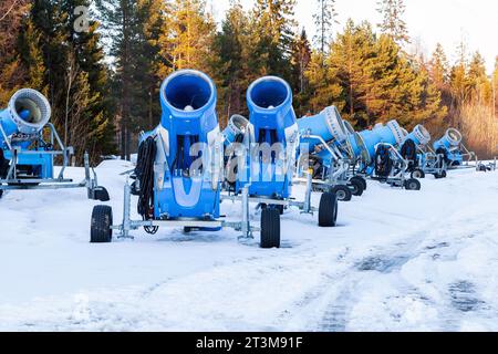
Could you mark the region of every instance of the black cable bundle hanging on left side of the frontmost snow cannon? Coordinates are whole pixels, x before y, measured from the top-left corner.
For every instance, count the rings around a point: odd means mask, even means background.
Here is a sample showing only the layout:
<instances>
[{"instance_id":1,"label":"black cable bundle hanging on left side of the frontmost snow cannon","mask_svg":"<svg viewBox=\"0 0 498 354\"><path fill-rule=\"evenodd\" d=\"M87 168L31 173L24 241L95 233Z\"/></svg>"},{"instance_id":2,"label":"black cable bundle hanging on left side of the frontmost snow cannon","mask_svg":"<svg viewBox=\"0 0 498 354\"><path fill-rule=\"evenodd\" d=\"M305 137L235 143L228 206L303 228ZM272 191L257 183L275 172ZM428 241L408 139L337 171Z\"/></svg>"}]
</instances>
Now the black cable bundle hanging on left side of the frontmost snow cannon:
<instances>
[{"instance_id":1,"label":"black cable bundle hanging on left side of the frontmost snow cannon","mask_svg":"<svg viewBox=\"0 0 498 354\"><path fill-rule=\"evenodd\" d=\"M138 147L138 158L135 176L139 184L137 210L144 220L154 219L154 162L157 146L154 137L149 136ZM158 227L145 227L147 233L154 235Z\"/></svg>"}]
</instances>

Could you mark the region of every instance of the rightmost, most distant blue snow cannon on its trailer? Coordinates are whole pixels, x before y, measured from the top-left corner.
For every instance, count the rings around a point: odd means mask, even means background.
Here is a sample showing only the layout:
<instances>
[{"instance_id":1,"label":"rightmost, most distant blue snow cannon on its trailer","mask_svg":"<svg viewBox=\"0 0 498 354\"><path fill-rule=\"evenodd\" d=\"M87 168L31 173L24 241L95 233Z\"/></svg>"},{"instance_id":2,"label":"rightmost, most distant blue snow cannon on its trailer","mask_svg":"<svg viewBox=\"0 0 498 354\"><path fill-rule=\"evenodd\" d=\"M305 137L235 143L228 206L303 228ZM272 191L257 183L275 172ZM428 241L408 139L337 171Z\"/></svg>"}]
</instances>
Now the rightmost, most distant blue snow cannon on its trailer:
<instances>
[{"instance_id":1,"label":"rightmost, most distant blue snow cannon on its trailer","mask_svg":"<svg viewBox=\"0 0 498 354\"><path fill-rule=\"evenodd\" d=\"M449 128L440 139L433 144L436 154L444 156L449 169L468 167L471 160L477 163L476 154L468 150L463 140L464 137L460 132Z\"/></svg>"}]
</instances>

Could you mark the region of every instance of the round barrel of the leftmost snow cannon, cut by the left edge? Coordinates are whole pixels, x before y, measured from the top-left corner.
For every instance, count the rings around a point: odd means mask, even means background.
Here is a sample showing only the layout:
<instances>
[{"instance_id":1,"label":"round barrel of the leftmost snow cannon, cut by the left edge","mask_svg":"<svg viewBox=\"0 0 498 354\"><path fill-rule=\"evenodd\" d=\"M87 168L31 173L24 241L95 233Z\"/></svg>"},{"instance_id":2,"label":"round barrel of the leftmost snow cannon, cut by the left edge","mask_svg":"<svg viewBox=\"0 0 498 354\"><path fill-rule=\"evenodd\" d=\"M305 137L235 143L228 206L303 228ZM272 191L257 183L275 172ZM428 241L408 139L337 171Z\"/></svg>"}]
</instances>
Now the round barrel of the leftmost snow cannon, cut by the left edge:
<instances>
[{"instance_id":1,"label":"round barrel of the leftmost snow cannon, cut by the left edge","mask_svg":"<svg viewBox=\"0 0 498 354\"><path fill-rule=\"evenodd\" d=\"M51 108L49 101L38 91L23 88L10 98L7 108L0 111L0 146L6 137L22 133L37 135L49 123Z\"/></svg>"}]
</instances>

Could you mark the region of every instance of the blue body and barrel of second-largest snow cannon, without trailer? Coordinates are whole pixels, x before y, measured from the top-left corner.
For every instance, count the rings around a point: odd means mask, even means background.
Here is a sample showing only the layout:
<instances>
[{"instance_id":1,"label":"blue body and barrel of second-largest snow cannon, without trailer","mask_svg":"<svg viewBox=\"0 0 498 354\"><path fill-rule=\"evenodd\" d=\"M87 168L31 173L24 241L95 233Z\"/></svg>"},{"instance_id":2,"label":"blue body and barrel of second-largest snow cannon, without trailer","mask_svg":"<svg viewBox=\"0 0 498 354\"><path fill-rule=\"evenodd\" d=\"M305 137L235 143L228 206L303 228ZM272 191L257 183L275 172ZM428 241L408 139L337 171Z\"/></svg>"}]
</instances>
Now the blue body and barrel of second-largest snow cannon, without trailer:
<instances>
[{"instance_id":1,"label":"blue body and barrel of second-largest snow cannon, without trailer","mask_svg":"<svg viewBox=\"0 0 498 354\"><path fill-rule=\"evenodd\" d=\"M277 76L255 81L247 91L249 122L258 145L250 153L250 188L255 197L287 199L299 144L289 84Z\"/></svg>"}]
</instances>

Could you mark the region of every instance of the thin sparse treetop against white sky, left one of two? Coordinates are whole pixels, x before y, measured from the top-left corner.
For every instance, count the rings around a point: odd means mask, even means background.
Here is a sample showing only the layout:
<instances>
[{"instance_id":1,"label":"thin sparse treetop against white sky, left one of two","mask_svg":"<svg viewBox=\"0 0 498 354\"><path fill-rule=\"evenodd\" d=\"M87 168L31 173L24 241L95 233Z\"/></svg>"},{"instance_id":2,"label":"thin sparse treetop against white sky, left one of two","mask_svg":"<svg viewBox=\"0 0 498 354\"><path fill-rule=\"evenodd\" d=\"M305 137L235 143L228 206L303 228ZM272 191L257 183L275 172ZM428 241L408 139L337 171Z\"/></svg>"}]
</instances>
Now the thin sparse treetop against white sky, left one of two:
<instances>
[{"instance_id":1,"label":"thin sparse treetop against white sky, left one of two","mask_svg":"<svg viewBox=\"0 0 498 354\"><path fill-rule=\"evenodd\" d=\"M317 0L317 11L313 14L317 34L315 44L322 53L325 53L332 41L332 28L335 23L338 13L335 12L335 0Z\"/></svg>"}]
</instances>

